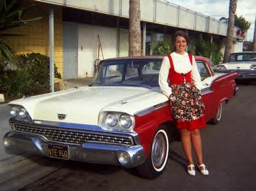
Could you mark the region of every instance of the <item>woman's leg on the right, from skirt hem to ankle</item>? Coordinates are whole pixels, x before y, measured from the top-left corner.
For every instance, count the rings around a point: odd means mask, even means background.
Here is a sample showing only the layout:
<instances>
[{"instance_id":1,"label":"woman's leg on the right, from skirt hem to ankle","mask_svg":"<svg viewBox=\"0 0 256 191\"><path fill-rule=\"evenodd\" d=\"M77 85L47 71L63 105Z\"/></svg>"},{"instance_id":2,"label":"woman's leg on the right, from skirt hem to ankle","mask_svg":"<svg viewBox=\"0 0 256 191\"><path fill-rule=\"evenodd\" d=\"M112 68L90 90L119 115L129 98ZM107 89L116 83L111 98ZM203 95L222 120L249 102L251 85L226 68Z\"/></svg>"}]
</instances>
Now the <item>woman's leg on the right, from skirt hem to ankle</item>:
<instances>
[{"instance_id":1,"label":"woman's leg on the right, from skirt hem to ankle","mask_svg":"<svg viewBox=\"0 0 256 191\"><path fill-rule=\"evenodd\" d=\"M191 131L191 140L195 149L198 164L203 164L202 142L199 129Z\"/></svg>"}]
</instances>

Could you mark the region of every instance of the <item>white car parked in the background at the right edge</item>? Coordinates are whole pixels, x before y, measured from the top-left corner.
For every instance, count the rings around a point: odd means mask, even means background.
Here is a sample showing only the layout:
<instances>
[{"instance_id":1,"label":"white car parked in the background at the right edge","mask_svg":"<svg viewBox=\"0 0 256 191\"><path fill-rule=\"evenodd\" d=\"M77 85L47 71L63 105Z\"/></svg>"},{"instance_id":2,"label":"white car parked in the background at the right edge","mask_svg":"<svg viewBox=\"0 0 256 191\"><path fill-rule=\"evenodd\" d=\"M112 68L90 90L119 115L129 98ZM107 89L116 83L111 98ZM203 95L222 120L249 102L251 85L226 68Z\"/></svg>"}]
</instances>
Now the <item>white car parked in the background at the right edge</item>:
<instances>
[{"instance_id":1,"label":"white car parked in the background at the right edge","mask_svg":"<svg viewBox=\"0 0 256 191\"><path fill-rule=\"evenodd\" d=\"M237 71L238 79L256 79L256 52L232 53L228 63L217 66L219 73Z\"/></svg>"}]
</instances>

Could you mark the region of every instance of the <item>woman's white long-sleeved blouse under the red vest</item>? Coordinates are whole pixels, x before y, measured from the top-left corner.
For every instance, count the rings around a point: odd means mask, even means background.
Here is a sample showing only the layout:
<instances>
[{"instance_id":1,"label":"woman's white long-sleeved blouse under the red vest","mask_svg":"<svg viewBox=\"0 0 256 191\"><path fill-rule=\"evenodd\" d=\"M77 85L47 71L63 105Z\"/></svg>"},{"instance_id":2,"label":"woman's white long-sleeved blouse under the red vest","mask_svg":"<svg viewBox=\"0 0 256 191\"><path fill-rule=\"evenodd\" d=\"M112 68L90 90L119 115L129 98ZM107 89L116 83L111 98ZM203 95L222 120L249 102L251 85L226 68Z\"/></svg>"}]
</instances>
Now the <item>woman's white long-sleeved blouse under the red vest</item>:
<instances>
[{"instance_id":1,"label":"woman's white long-sleeved blouse under the red vest","mask_svg":"<svg viewBox=\"0 0 256 191\"><path fill-rule=\"evenodd\" d=\"M197 64L194 56L192 57L193 65L191 65L188 54L186 52L183 55L173 52L172 54L170 54L170 56L172 56L174 70L179 74L181 73L186 74L189 71L191 71L192 83L198 89L201 89L201 86L202 86L201 77L197 69ZM163 94L165 94L165 96L170 96L170 94L172 94L172 88L169 87L167 82L169 69L170 69L170 62L169 62L169 58L166 56L163 58L162 65L160 68L160 73L159 73L159 86L163 91Z\"/></svg>"}]
</instances>

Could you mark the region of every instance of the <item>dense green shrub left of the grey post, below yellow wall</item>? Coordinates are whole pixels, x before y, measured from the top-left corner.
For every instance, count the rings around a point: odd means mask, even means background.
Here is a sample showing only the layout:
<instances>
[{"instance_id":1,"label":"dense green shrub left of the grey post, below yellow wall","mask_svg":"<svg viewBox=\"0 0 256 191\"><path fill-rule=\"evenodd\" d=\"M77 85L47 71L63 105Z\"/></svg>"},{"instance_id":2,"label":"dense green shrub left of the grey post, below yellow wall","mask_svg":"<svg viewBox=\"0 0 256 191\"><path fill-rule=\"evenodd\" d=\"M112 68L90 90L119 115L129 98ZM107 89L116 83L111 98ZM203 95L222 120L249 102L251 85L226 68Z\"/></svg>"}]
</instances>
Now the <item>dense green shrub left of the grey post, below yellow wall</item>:
<instances>
[{"instance_id":1,"label":"dense green shrub left of the grey post, below yellow wall","mask_svg":"<svg viewBox=\"0 0 256 191\"><path fill-rule=\"evenodd\" d=\"M19 55L16 70L4 70L0 64L0 91L7 96L23 97L50 90L50 58L39 53ZM61 78L54 65L54 77Z\"/></svg>"}]
</instances>

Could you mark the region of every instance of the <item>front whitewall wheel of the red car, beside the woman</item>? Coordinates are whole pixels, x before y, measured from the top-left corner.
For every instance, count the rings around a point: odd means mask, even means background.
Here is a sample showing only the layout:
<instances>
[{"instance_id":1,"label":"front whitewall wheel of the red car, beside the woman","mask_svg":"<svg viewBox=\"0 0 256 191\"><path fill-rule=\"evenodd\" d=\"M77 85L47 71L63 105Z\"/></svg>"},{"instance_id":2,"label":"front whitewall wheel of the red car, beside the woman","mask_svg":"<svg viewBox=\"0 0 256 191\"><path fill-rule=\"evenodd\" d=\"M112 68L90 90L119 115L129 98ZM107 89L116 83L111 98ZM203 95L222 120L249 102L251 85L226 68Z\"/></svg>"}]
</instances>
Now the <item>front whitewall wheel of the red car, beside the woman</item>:
<instances>
[{"instance_id":1,"label":"front whitewall wheel of the red car, beside the woman","mask_svg":"<svg viewBox=\"0 0 256 191\"><path fill-rule=\"evenodd\" d=\"M168 132L165 127L160 127L154 136L150 155L143 164L137 166L138 173L148 179L158 177L166 167L168 152Z\"/></svg>"}]
</instances>

